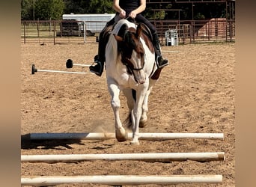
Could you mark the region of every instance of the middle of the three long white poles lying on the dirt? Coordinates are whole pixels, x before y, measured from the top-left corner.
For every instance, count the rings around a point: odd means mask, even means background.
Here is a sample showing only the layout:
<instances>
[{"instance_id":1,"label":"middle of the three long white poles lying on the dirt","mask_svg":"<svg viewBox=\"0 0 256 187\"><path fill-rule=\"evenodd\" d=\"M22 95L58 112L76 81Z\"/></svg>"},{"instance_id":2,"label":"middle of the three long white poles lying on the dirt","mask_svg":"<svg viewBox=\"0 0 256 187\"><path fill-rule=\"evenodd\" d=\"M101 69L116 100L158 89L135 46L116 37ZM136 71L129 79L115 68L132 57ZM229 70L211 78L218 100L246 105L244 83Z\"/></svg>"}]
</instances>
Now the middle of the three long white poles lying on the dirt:
<instances>
[{"instance_id":1,"label":"middle of the three long white poles lying on the dirt","mask_svg":"<svg viewBox=\"0 0 256 187\"><path fill-rule=\"evenodd\" d=\"M67 154L67 155L22 155L21 162L81 162L89 160L145 160L145 161L214 161L224 160L219 153L112 153L112 154Z\"/></svg>"}]
</instances>

